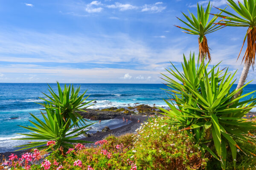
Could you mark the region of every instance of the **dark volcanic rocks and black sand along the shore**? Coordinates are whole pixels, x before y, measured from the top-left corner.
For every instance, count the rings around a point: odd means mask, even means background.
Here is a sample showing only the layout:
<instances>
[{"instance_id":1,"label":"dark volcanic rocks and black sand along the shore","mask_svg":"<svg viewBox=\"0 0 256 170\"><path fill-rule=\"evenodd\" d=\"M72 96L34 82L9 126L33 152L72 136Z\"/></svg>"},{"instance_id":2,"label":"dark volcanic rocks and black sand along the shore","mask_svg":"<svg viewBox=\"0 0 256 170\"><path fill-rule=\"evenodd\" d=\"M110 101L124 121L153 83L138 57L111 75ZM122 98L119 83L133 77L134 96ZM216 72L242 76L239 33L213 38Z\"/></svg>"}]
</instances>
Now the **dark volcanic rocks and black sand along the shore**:
<instances>
[{"instance_id":1,"label":"dark volcanic rocks and black sand along the shore","mask_svg":"<svg viewBox=\"0 0 256 170\"><path fill-rule=\"evenodd\" d=\"M108 135L121 136L126 133L136 133L136 129L140 127L141 123L146 122L149 116L153 115L161 115L159 110L156 107L151 107L148 105L138 105L135 107L128 108L105 108L102 110L93 110L93 109L85 109L87 112L79 112L81 116L85 119L90 120L105 120L105 119L128 119L130 120L131 115L131 123L124 125L122 127L118 127L115 129L111 129L108 132L97 132L90 133L90 137L84 137L81 140L90 141L92 143L86 143L85 146L91 147L94 146L94 142L104 139ZM246 117L256 116L255 112L247 113ZM140 119L140 123L137 123L138 119ZM8 157L11 153L15 153L17 156L21 156L23 153L28 152L29 150L22 150L16 152L5 152L0 153L0 156Z\"/></svg>"}]
</instances>

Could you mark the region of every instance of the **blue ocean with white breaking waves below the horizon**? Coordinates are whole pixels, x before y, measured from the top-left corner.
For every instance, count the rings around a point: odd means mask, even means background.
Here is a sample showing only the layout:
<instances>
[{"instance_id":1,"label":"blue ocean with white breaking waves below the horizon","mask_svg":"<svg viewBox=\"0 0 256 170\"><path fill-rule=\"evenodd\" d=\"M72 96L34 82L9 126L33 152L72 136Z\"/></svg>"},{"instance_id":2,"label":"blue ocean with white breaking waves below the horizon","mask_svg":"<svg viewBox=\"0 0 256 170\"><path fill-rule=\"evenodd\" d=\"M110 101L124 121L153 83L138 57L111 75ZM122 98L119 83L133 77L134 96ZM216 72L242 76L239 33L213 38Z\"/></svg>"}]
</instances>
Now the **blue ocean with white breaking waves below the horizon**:
<instances>
[{"instance_id":1,"label":"blue ocean with white breaking waves below the horizon","mask_svg":"<svg viewBox=\"0 0 256 170\"><path fill-rule=\"evenodd\" d=\"M54 91L57 91L57 84L49 84ZM96 99L95 105L90 108L108 108L108 107L128 107L135 103L147 104L159 107L166 107L163 99L168 96L161 88L166 88L163 84L74 84L75 87L81 86L81 93L87 90L86 96L90 95L87 101ZM64 84L61 84L63 87ZM43 102L38 97L45 98L43 93L49 95L47 83L0 83L0 153L14 151L20 144L26 144L27 141L12 140L23 137L17 133L28 133L17 125L31 125L28 120L33 120L29 113L41 117L41 105L35 102ZM233 89L236 85L233 85ZM244 93L256 90L256 85L247 85ZM254 93L255 95L256 93ZM252 95L247 96L249 99ZM252 111L256 111L253 109ZM92 121L96 122L96 121ZM129 123L129 122L128 122ZM90 133L107 125L111 129L125 125L119 119L103 120L92 126Z\"/></svg>"}]
</instances>

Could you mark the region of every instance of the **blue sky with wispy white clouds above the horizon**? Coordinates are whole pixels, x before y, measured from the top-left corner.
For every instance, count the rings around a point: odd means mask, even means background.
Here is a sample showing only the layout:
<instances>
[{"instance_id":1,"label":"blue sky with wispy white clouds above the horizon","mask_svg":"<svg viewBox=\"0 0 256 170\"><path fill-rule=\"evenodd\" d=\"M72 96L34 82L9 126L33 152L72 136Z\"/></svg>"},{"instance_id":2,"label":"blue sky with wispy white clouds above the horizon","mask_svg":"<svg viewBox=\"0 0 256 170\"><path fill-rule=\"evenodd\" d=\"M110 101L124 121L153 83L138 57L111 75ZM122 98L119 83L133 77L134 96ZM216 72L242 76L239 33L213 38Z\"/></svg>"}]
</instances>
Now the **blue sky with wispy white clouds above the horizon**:
<instances>
[{"instance_id":1,"label":"blue sky with wispy white clouds above the horizon","mask_svg":"<svg viewBox=\"0 0 256 170\"><path fill-rule=\"evenodd\" d=\"M170 62L181 69L183 54L198 56L198 37L174 26L184 26L176 17L195 13L197 2L209 1L0 0L0 82L162 83ZM211 65L222 61L239 79L245 33L207 34ZM247 79L255 77L250 68Z\"/></svg>"}]
</instances>

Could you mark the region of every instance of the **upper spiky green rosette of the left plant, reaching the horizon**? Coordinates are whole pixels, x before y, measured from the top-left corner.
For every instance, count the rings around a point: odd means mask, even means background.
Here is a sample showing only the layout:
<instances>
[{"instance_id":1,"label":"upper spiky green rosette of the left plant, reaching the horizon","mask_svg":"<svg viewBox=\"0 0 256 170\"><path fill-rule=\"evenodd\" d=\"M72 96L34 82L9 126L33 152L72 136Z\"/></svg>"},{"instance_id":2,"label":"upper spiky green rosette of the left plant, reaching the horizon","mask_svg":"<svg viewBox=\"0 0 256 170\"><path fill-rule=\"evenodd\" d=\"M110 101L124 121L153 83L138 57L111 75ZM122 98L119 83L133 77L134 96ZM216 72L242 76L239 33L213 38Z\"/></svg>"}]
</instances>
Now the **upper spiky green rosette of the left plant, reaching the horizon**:
<instances>
[{"instance_id":1,"label":"upper spiky green rosette of the left plant, reaching the horizon","mask_svg":"<svg viewBox=\"0 0 256 170\"><path fill-rule=\"evenodd\" d=\"M74 88L64 85L64 90L61 89L60 84L57 82L58 85L58 93L55 93L52 88L49 86L48 91L50 92L51 96L48 96L47 94L44 94L48 97L48 99L44 99L39 97L40 99L43 99L45 102L47 102L49 105L44 105L44 103L38 103L40 105L43 105L47 108L53 108L53 109L59 109L61 113L61 119L64 120L64 122L68 122L68 126L71 125L71 122L75 122L75 127L79 127L80 125L83 125L85 123L85 119L82 118L82 116L79 114L79 111L86 112L82 109L88 108L91 105L88 105L90 102L84 102L89 96L84 98L84 94L86 91L79 96L80 92L80 86L79 88ZM85 107L85 105L88 105ZM79 119L79 121L77 121ZM83 123L83 124L82 124Z\"/></svg>"}]
</instances>

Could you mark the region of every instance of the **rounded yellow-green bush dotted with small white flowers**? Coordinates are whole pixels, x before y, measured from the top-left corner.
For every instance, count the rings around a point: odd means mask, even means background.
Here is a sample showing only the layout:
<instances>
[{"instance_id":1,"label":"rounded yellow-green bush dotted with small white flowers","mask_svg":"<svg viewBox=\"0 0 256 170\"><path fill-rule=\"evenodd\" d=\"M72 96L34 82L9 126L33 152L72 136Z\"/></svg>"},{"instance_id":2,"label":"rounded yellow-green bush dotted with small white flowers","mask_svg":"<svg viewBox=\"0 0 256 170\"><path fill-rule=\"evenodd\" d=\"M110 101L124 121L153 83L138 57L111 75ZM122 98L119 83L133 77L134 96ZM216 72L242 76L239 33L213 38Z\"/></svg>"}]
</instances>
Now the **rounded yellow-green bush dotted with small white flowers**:
<instances>
[{"instance_id":1,"label":"rounded yellow-green bush dotted with small white flowers","mask_svg":"<svg viewBox=\"0 0 256 170\"><path fill-rule=\"evenodd\" d=\"M204 167L199 145L186 132L165 123L163 117L144 123L137 132L134 157L143 170L196 170Z\"/></svg>"}]
</instances>

